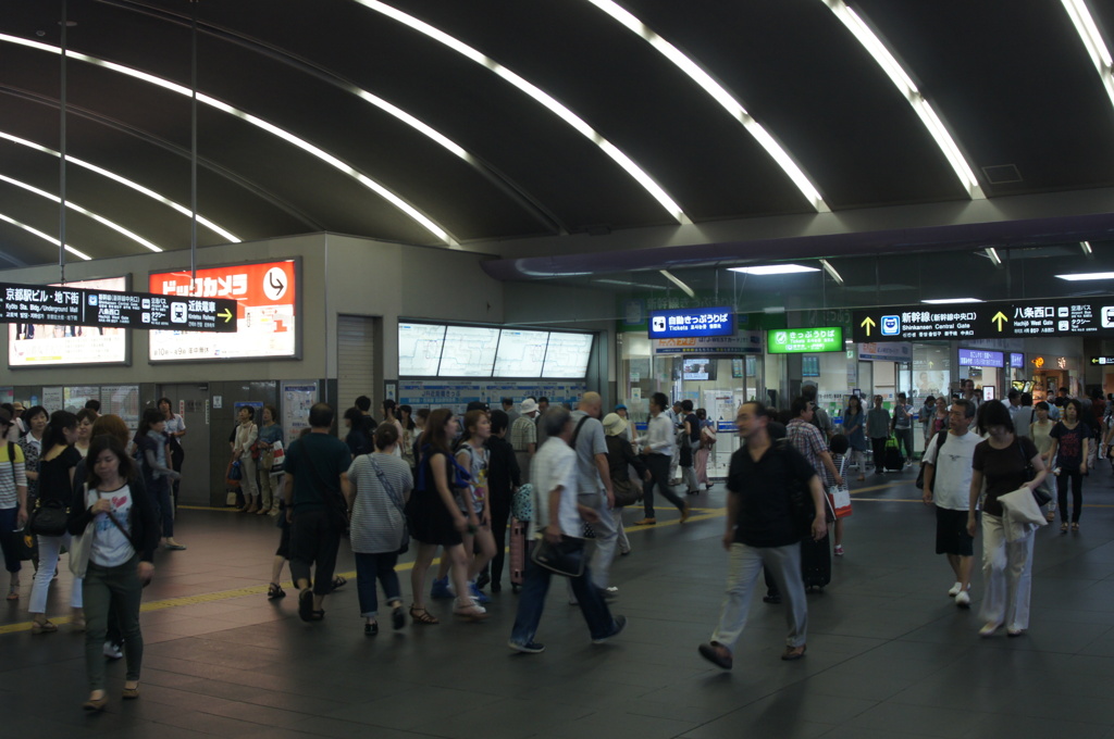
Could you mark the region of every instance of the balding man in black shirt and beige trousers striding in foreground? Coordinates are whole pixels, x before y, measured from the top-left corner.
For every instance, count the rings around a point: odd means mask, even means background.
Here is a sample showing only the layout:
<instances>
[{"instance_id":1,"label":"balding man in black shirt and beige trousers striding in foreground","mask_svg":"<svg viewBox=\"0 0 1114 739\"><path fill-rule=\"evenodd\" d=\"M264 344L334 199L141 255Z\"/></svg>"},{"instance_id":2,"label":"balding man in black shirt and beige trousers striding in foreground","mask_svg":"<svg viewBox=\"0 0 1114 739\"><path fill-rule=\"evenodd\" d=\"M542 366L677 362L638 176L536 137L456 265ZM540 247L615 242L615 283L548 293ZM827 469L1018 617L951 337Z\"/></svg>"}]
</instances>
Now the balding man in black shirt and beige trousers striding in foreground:
<instances>
[{"instance_id":1,"label":"balding man in black shirt and beige trousers striding in foreground","mask_svg":"<svg viewBox=\"0 0 1114 739\"><path fill-rule=\"evenodd\" d=\"M731 648L746 625L751 594L763 565L786 602L789 637L781 659L804 657L808 603L801 580L802 534L791 501L794 484L812 497L812 538L819 541L828 531L820 477L800 452L771 441L769 423L766 408L753 402L743 404L735 418L744 445L731 456L727 472L727 530L723 535L723 546L730 553L727 592L712 642L700 646L704 659L725 670L731 669Z\"/></svg>"}]
</instances>

